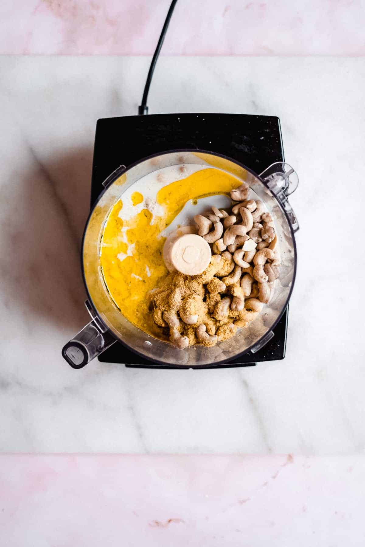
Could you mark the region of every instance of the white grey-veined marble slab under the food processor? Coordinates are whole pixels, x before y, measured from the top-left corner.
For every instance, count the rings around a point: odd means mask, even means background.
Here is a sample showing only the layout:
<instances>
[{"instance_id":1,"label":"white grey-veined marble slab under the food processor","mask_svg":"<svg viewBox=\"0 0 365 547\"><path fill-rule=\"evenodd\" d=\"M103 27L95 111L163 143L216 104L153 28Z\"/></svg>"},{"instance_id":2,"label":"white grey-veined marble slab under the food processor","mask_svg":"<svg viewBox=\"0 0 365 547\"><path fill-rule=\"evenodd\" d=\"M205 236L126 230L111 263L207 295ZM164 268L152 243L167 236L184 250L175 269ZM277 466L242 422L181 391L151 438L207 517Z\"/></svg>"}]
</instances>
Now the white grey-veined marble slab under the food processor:
<instances>
[{"instance_id":1,"label":"white grey-veined marble slab under the food processor","mask_svg":"<svg viewBox=\"0 0 365 547\"><path fill-rule=\"evenodd\" d=\"M150 90L150 113L280 117L300 178L285 360L215 371L62 360L88 319L79 247L95 123L136 113L148 62L0 58L1 450L363 453L364 59L165 57Z\"/></svg>"}]
</instances>

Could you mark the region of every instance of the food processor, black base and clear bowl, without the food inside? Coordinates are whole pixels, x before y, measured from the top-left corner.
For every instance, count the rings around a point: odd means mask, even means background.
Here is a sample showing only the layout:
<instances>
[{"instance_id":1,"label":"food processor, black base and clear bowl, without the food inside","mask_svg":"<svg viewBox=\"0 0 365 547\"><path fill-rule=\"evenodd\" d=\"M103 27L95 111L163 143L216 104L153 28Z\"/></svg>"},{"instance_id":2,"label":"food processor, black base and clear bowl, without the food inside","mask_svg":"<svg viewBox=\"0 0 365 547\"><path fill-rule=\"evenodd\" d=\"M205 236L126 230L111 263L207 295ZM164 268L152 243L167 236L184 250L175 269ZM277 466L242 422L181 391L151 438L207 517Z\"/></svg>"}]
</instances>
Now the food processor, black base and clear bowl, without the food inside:
<instances>
[{"instance_id":1,"label":"food processor, black base and clear bowl, without the food inside","mask_svg":"<svg viewBox=\"0 0 365 547\"><path fill-rule=\"evenodd\" d=\"M121 314L102 276L100 246L109 212L131 185L160 168L190 164L228 172L250 185L275 220L282 267L269 304L248 327L215 347L179 350L144 333ZM97 195L100 181L103 190ZM283 358L287 305L296 275L294 232L298 230L288 196L297 185L296 172L283 161L276 117L202 113L99 120L92 208L82 246L86 306L92 320L63 347L63 357L73 368L82 368L99 354L101 360L153 368L243 366Z\"/></svg>"}]
</instances>

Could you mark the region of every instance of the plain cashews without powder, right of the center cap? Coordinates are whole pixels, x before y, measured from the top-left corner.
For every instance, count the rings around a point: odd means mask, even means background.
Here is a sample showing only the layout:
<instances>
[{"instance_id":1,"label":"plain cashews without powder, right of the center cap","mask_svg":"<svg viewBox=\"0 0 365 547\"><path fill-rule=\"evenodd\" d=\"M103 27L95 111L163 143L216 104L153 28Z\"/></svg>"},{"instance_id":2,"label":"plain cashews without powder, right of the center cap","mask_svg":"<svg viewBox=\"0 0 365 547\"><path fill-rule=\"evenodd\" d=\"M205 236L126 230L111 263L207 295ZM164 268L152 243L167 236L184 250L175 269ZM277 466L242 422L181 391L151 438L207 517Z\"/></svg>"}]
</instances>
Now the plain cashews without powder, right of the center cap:
<instances>
[{"instance_id":1,"label":"plain cashews without powder, right of the center cap","mask_svg":"<svg viewBox=\"0 0 365 547\"><path fill-rule=\"evenodd\" d=\"M234 284L240 283L247 298L266 304L280 275L280 254L274 220L260 200L247 200L250 187L245 182L230 196L237 201L231 213L212 207L212 212L197 214L198 235L210 243L212 252L231 257L236 264ZM231 306L235 306L235 298Z\"/></svg>"}]
</instances>

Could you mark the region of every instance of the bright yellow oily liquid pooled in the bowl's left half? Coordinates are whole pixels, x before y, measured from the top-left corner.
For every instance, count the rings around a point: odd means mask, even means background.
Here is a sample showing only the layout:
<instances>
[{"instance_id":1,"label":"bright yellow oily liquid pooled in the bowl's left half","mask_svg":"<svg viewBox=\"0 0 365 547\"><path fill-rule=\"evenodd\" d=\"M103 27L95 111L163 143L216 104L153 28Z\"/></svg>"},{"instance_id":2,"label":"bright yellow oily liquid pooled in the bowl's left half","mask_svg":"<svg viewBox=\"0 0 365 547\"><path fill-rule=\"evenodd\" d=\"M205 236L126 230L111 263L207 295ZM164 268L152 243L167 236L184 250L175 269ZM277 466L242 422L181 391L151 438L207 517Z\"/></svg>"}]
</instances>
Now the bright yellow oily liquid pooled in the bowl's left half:
<instances>
[{"instance_id":1,"label":"bright yellow oily liquid pooled in the bowl's left half","mask_svg":"<svg viewBox=\"0 0 365 547\"><path fill-rule=\"evenodd\" d=\"M242 181L215 168L204 168L186 178L166 184L157 193L159 213L143 208L128 219L123 215L123 201L115 203L106 222L101 242L102 274L121 313L146 333L161 337L148 309L147 293L158 286L169 272L163 260L165 237L161 232L175 219L189 200L215 194L229 194ZM133 207L144 196L135 191L129 198ZM126 205L126 204L125 204Z\"/></svg>"}]
</instances>

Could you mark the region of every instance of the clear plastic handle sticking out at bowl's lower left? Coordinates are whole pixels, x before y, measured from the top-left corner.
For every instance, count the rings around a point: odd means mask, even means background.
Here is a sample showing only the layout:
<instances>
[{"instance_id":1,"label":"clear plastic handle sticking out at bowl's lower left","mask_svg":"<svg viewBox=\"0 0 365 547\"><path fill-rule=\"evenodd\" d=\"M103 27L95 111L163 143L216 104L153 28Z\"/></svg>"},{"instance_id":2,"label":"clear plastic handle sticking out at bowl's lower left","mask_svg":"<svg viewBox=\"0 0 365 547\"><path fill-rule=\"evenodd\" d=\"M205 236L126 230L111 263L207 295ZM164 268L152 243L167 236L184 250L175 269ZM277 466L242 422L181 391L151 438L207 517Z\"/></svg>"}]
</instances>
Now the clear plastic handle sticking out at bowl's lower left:
<instances>
[{"instance_id":1,"label":"clear plastic handle sticking out at bowl's lower left","mask_svg":"<svg viewBox=\"0 0 365 547\"><path fill-rule=\"evenodd\" d=\"M94 357L107 350L116 342L111 332L103 325L96 316L89 301L85 302L92 317L92 321L85 325L65 346L62 348L62 357L73 369L82 369Z\"/></svg>"}]
</instances>

